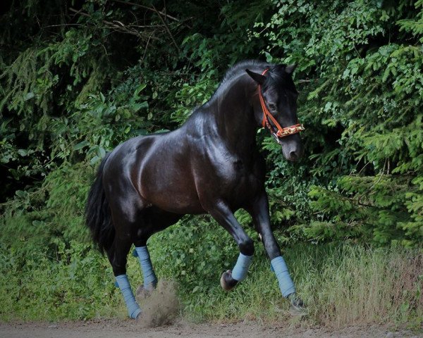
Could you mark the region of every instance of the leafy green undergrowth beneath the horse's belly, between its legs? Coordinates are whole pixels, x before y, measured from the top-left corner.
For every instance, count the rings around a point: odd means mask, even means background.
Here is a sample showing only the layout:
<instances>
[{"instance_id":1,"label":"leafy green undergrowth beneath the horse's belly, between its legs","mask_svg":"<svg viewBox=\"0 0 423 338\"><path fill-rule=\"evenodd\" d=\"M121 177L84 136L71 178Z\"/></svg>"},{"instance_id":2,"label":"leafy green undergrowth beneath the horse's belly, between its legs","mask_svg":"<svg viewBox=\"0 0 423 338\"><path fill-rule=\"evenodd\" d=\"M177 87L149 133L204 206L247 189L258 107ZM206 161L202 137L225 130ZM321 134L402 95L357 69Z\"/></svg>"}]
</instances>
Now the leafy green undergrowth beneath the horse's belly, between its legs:
<instances>
[{"instance_id":1,"label":"leafy green undergrowth beneath the horse's belly, between its legs","mask_svg":"<svg viewBox=\"0 0 423 338\"><path fill-rule=\"evenodd\" d=\"M209 217L186 218L182 223L149 240L154 265L160 266L164 275L183 280L183 291L214 287L220 271L235 264L236 244Z\"/></svg>"}]
</instances>

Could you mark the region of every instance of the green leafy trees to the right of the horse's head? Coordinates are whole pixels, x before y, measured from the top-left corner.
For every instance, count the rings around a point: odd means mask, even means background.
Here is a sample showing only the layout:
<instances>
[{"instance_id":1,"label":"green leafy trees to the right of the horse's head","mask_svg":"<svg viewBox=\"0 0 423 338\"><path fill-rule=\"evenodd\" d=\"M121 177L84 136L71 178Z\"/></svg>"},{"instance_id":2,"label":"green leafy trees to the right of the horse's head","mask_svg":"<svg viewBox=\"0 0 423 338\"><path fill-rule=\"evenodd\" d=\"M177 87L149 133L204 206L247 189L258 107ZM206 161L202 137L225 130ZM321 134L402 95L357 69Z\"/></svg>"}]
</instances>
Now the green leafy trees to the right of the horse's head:
<instances>
[{"instance_id":1,"label":"green leafy trees to the right of the horse's head","mask_svg":"<svg viewBox=\"0 0 423 338\"><path fill-rule=\"evenodd\" d=\"M283 46L283 61L298 62L300 70L316 78L308 82L307 99L300 104L300 118L309 126L306 162L314 177L283 165L271 175L283 173L288 182L296 180L295 187L309 182L304 187L313 201L302 199L305 213L297 208L300 201L290 203L303 218L298 221L309 220L303 223L304 238L422 242L422 190L413 182L423 175L423 50L413 39L405 43L404 35L391 35L392 25L411 31L398 20L414 22L409 4L288 1L277 7L269 23L256 24L255 37L269 39L268 58L277 60L275 48ZM421 18L421 11L414 13ZM293 25L299 20L301 25ZM280 166L280 156L272 160Z\"/></svg>"}]
</instances>

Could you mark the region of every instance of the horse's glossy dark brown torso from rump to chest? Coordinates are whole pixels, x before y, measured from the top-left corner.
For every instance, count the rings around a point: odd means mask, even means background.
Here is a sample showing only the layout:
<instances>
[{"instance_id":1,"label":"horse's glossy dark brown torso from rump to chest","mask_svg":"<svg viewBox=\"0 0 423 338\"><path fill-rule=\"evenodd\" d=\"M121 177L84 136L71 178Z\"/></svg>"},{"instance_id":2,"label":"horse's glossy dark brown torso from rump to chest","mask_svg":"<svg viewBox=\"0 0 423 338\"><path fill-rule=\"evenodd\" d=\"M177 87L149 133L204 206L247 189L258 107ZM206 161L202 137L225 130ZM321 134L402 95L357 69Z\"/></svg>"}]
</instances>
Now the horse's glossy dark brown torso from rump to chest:
<instances>
[{"instance_id":1,"label":"horse's glossy dark brown torso from rump to chest","mask_svg":"<svg viewBox=\"0 0 423 338\"><path fill-rule=\"evenodd\" d=\"M258 152L249 149L245 158L235 154L208 118L197 111L178 130L118 146L106 165L118 190L111 195L136 194L140 208L152 205L178 214L204 213L222 200L243 208L264 181Z\"/></svg>"}]
</instances>

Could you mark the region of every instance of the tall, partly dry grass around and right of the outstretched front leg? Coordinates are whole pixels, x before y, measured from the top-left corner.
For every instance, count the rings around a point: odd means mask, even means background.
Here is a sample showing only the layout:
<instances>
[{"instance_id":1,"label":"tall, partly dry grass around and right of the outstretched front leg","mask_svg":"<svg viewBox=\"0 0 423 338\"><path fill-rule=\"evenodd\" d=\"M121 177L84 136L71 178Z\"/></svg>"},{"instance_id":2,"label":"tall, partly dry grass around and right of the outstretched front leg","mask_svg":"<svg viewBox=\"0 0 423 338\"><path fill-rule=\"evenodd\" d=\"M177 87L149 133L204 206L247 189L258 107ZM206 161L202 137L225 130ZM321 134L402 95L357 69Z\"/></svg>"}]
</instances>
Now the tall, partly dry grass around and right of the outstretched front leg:
<instances>
[{"instance_id":1,"label":"tall, partly dry grass around and right of the outstretched front leg","mask_svg":"<svg viewBox=\"0 0 423 338\"><path fill-rule=\"evenodd\" d=\"M299 294L308 305L302 321L345 327L386 323L419 327L423 323L423 255L402 249L300 244L286 249ZM233 292L216 287L185 296L188 315L208 320L290 321L269 263L259 257ZM185 300L187 302L187 300Z\"/></svg>"}]
</instances>

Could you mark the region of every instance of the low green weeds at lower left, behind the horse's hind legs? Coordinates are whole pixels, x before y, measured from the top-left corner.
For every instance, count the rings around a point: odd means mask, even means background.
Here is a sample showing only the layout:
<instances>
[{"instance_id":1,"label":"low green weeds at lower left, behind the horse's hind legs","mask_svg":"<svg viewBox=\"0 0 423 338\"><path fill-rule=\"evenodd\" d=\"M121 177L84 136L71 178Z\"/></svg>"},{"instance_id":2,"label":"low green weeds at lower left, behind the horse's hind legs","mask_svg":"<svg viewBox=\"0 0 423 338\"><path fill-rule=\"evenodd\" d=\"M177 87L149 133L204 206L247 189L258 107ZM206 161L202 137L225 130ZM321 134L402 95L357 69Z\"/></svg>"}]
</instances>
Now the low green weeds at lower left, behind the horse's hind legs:
<instances>
[{"instance_id":1,"label":"low green weeds at lower left, behind the horse's hind legs","mask_svg":"<svg viewBox=\"0 0 423 338\"><path fill-rule=\"evenodd\" d=\"M109 262L89 244L66 248L57 239L54 256L41 247L25 252L1 245L0 256L3 320L110 317L120 303L118 290L104 278Z\"/></svg>"}]
</instances>

